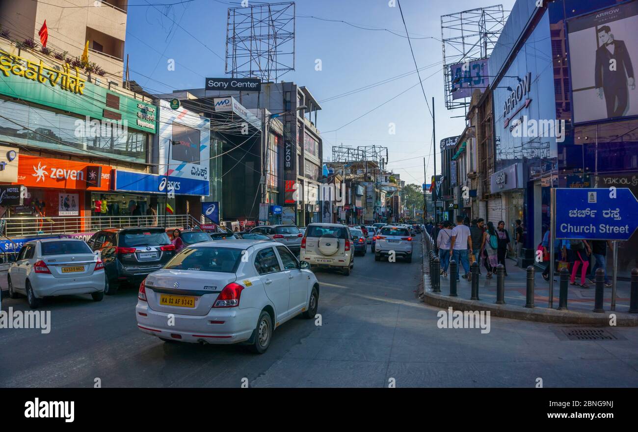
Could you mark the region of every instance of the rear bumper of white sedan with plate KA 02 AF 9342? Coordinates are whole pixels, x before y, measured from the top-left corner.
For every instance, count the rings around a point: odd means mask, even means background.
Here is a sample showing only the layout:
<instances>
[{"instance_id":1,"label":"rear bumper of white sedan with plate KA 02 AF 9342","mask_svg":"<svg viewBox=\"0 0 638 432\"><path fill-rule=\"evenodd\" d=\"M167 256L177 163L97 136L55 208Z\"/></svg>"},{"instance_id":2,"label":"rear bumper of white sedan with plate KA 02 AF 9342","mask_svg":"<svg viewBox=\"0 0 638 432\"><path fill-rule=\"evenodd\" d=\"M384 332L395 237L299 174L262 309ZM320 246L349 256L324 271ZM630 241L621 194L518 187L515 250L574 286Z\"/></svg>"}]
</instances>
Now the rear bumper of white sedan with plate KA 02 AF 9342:
<instances>
[{"instance_id":1,"label":"rear bumper of white sedan with plate KA 02 AF 9342","mask_svg":"<svg viewBox=\"0 0 638 432\"><path fill-rule=\"evenodd\" d=\"M157 312L139 300L135 308L138 328L149 335L180 342L237 343L248 340L261 311L256 308L214 308L206 315ZM173 315L169 325L168 315Z\"/></svg>"}]
</instances>

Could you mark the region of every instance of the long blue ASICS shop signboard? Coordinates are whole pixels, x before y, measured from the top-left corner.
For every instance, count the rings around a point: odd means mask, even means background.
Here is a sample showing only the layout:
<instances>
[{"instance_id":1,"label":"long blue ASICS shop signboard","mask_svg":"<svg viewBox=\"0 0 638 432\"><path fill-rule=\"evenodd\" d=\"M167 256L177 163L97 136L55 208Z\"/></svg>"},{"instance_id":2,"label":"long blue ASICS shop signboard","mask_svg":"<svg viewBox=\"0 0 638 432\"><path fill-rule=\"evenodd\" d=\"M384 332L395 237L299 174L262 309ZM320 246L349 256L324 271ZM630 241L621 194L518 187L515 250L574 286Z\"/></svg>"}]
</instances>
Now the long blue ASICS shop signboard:
<instances>
[{"instance_id":1,"label":"long blue ASICS shop signboard","mask_svg":"<svg viewBox=\"0 0 638 432\"><path fill-rule=\"evenodd\" d=\"M174 191L175 195L209 195L209 182L179 178L174 176L135 173L115 169L114 191L145 192L150 194L166 194ZM167 191L168 187L168 191Z\"/></svg>"}]
</instances>

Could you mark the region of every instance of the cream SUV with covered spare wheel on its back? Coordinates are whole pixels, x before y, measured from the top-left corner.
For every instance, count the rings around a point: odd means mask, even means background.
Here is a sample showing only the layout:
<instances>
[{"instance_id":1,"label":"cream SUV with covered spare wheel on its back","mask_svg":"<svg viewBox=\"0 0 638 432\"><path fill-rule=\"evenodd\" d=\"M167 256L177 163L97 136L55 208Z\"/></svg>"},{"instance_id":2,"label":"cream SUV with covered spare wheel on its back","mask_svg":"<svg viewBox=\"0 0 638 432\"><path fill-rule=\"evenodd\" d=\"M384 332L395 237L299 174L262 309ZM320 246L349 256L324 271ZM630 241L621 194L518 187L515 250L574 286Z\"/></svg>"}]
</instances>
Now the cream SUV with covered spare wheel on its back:
<instances>
[{"instance_id":1,"label":"cream SUV with covered spare wheel on its back","mask_svg":"<svg viewBox=\"0 0 638 432\"><path fill-rule=\"evenodd\" d=\"M354 266L350 228L340 224L309 224L301 240L300 261L337 268L346 276Z\"/></svg>"}]
</instances>

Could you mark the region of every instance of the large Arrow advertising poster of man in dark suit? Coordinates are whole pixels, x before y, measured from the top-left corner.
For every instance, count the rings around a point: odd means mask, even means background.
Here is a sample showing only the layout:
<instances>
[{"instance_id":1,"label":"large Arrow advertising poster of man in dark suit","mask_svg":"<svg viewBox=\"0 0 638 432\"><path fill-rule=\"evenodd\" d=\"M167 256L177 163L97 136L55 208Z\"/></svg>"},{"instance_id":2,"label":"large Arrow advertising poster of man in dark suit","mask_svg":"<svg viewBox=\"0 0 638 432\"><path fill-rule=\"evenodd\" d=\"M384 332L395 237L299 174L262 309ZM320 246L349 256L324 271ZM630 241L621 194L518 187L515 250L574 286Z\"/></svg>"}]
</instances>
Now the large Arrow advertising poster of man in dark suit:
<instances>
[{"instance_id":1,"label":"large Arrow advertising poster of man in dark suit","mask_svg":"<svg viewBox=\"0 0 638 432\"><path fill-rule=\"evenodd\" d=\"M567 23L574 122L638 115L638 1Z\"/></svg>"}]
</instances>

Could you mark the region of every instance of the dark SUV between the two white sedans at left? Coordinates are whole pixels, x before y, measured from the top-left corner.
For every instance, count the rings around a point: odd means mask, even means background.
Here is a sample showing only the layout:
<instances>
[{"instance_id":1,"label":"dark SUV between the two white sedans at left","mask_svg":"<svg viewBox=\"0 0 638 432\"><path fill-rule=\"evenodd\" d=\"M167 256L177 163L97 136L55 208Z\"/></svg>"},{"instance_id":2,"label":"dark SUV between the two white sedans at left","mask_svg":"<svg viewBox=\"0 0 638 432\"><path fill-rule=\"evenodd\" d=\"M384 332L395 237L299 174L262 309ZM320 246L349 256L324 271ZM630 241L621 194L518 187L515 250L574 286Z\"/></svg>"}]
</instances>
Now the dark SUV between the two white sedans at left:
<instances>
[{"instance_id":1,"label":"dark SUV between the two white sedans at left","mask_svg":"<svg viewBox=\"0 0 638 432\"><path fill-rule=\"evenodd\" d=\"M175 256L175 246L163 228L103 229L87 243L91 249L100 251L107 274L104 293L109 296L124 282L139 284Z\"/></svg>"}]
</instances>

